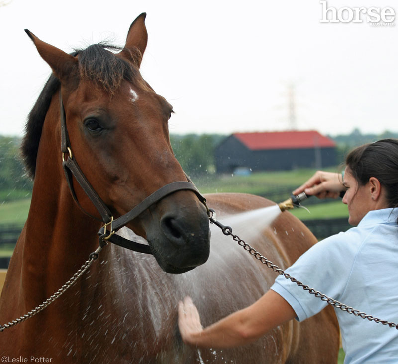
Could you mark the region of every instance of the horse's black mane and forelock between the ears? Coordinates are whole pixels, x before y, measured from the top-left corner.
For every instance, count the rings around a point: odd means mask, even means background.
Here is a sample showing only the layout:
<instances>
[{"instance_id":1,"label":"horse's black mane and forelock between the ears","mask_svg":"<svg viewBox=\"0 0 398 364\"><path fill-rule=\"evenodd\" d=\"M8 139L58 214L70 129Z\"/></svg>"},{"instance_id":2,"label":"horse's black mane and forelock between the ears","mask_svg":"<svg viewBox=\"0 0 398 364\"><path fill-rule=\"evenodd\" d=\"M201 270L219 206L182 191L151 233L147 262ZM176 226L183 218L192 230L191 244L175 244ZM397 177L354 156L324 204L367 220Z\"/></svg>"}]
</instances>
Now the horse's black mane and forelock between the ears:
<instances>
[{"instance_id":1,"label":"horse's black mane and forelock between the ears","mask_svg":"<svg viewBox=\"0 0 398 364\"><path fill-rule=\"evenodd\" d=\"M115 53L111 52L121 50L129 60L116 57ZM86 49L77 49L71 55L78 56L80 79L94 81L110 95L115 93L123 80L147 88L139 73L142 54L137 48L127 49L99 43ZM60 85L60 80L54 74L51 74L27 118L21 155L26 170L32 178L35 176L37 151L44 119L50 107L52 96L58 91Z\"/></svg>"}]
</instances>

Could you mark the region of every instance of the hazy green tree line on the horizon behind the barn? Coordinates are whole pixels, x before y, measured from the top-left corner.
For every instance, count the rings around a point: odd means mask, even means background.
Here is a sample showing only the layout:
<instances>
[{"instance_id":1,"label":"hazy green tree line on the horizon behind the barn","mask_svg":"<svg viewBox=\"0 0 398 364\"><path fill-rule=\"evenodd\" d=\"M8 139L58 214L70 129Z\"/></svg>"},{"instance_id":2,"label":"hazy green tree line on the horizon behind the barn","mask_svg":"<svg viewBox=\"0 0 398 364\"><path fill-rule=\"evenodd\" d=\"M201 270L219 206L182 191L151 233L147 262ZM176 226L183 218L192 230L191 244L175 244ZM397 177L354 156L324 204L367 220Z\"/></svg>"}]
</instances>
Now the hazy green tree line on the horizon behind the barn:
<instances>
[{"instance_id":1,"label":"hazy green tree line on the horizon behind the barn","mask_svg":"<svg viewBox=\"0 0 398 364\"><path fill-rule=\"evenodd\" d=\"M219 134L170 136L174 154L184 171L192 178L215 172L214 149L226 137ZM398 133L362 134L359 129L346 135L329 136L337 144L336 164L355 146L384 138L398 138ZM0 203L27 196L33 182L27 176L19 154L21 138L0 136Z\"/></svg>"}]
</instances>

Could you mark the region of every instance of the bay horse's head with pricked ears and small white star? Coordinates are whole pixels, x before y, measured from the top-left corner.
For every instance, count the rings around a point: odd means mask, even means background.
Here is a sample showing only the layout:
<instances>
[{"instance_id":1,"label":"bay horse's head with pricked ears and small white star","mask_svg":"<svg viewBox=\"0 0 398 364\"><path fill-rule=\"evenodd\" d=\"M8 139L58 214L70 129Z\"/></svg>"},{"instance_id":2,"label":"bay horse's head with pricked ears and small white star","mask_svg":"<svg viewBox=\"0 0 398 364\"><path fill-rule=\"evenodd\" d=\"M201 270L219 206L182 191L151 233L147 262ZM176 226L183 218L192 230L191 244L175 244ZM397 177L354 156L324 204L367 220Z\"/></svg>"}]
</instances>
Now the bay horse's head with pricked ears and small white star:
<instances>
[{"instance_id":1,"label":"bay horse's head with pricked ears and small white star","mask_svg":"<svg viewBox=\"0 0 398 364\"><path fill-rule=\"evenodd\" d=\"M70 153L115 217L160 187L186 181L170 144L172 106L139 72L147 45L144 21L145 14L134 20L123 48L95 44L73 54L26 30L60 82ZM52 104L43 130L50 124L59 145L60 112L55 97ZM51 110L53 121L47 121ZM84 210L96 213L79 186L76 195ZM148 240L164 271L183 273L207 260L208 224L206 209L195 193L180 190L150 206L127 227Z\"/></svg>"}]
</instances>

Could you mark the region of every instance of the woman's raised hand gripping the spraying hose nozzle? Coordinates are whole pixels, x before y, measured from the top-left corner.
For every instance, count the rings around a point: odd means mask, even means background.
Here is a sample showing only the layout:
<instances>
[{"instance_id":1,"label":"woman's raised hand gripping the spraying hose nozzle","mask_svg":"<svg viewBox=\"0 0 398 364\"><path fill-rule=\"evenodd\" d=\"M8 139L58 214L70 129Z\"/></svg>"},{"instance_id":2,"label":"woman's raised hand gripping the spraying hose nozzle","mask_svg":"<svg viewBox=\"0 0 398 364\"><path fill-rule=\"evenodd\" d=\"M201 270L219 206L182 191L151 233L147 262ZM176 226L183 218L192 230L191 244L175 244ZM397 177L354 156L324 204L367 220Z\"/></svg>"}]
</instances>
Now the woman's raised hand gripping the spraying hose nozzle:
<instances>
[{"instance_id":1,"label":"woman's raised hand gripping the spraying hose nozzle","mask_svg":"<svg viewBox=\"0 0 398 364\"><path fill-rule=\"evenodd\" d=\"M337 198L344 190L341 174L317 171L307 182L296 188L293 194L305 192L318 198Z\"/></svg>"}]
</instances>

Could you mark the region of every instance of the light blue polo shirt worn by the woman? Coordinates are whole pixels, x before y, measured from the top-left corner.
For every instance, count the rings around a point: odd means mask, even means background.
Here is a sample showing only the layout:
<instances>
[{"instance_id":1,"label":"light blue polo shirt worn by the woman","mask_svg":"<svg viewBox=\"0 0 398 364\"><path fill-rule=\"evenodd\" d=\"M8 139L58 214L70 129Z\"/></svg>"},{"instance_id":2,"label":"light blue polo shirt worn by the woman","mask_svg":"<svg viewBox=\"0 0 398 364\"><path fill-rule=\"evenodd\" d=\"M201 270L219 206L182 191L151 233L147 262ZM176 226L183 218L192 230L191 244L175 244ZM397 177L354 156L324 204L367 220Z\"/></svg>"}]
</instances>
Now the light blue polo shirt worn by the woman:
<instances>
[{"instance_id":1,"label":"light blue polo shirt worn by the woman","mask_svg":"<svg viewBox=\"0 0 398 364\"><path fill-rule=\"evenodd\" d=\"M357 227L333 235L286 270L302 283L382 320L398 323L397 209L368 212ZM272 290L299 321L327 304L279 276ZM398 363L398 330L335 309L346 353L344 363Z\"/></svg>"}]
</instances>

